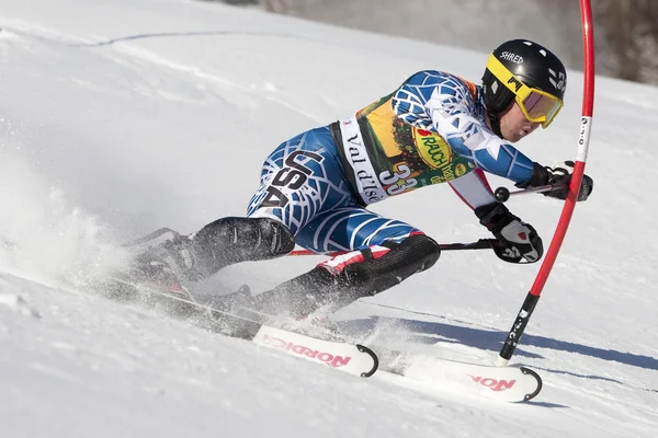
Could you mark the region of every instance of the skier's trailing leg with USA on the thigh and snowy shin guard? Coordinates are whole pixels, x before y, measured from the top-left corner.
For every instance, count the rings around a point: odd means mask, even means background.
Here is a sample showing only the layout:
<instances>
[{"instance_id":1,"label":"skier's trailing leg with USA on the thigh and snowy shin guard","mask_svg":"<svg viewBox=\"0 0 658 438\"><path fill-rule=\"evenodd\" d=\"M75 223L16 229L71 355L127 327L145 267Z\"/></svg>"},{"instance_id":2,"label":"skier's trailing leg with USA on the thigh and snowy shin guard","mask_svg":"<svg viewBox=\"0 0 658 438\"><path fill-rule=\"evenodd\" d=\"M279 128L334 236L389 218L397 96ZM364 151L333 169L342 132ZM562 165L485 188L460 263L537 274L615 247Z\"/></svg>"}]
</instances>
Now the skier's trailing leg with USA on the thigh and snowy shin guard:
<instances>
[{"instance_id":1,"label":"skier's trailing leg with USA on the thigh and snowy shin guard","mask_svg":"<svg viewBox=\"0 0 658 438\"><path fill-rule=\"evenodd\" d=\"M197 280L230 264L282 256L294 249L294 234L315 215L353 201L329 129L313 129L268 157L248 218L223 218L154 245L139 265L141 270L166 268Z\"/></svg>"}]
</instances>

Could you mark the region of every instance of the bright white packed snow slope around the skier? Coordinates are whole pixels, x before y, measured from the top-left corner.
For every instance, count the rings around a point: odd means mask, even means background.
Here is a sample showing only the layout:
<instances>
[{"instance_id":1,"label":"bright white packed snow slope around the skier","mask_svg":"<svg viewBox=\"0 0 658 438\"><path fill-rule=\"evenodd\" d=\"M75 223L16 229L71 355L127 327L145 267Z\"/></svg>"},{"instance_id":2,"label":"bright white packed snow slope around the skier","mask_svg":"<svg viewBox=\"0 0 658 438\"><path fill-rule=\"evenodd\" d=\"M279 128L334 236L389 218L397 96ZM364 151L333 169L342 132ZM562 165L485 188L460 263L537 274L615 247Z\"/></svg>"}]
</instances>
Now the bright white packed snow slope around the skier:
<instances>
[{"instance_id":1,"label":"bright white packed snow slope around the skier","mask_svg":"<svg viewBox=\"0 0 658 438\"><path fill-rule=\"evenodd\" d=\"M243 215L281 141L420 69L478 81L487 54L183 0L1 0L0 27L0 436L655 436L657 89L598 79L595 189L514 356L545 388L502 404L353 378L81 286L121 263L118 242ZM575 157L581 83L571 71L558 119L519 145L534 160ZM509 207L551 240L559 201ZM488 237L447 186L373 209L440 242ZM205 287L258 291L317 262L243 264ZM537 270L446 252L336 318L486 364Z\"/></svg>"}]
</instances>

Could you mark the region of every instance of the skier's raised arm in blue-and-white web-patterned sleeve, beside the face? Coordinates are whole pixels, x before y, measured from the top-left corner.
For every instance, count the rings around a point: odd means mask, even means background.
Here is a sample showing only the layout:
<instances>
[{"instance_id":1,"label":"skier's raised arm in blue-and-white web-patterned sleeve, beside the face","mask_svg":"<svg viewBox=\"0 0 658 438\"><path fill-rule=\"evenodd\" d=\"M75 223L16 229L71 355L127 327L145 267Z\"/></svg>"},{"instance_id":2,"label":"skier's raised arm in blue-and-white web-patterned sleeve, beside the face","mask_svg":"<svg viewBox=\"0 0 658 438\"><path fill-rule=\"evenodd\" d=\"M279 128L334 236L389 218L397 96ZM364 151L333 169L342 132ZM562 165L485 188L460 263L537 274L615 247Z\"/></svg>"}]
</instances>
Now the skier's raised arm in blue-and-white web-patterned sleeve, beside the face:
<instances>
[{"instance_id":1,"label":"skier's raised arm in blue-and-white web-patterned sleeve, beside the face","mask_svg":"<svg viewBox=\"0 0 658 438\"><path fill-rule=\"evenodd\" d=\"M473 96L460 78L418 72L396 92L394 110L407 123L439 132L479 169L515 183L532 177L533 162L476 117Z\"/></svg>"}]
</instances>

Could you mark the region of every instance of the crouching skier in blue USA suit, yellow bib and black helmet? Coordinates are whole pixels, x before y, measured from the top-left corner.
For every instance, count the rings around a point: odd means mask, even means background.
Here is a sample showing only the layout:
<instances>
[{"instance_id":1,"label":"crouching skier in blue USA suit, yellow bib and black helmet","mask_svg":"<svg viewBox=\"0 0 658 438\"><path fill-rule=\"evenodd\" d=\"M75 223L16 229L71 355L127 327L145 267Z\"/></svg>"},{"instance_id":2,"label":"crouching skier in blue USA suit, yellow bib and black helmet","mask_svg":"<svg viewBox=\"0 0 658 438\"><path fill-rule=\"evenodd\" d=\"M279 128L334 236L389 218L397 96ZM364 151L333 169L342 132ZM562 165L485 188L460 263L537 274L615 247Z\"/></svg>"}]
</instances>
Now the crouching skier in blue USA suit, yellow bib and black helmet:
<instances>
[{"instance_id":1,"label":"crouching skier in blue USA suit, yellow bib and black helmet","mask_svg":"<svg viewBox=\"0 0 658 438\"><path fill-rule=\"evenodd\" d=\"M295 243L316 253L341 251L270 291L241 297L269 314L331 312L436 263L432 238L366 207L439 183L447 183L494 234L498 257L537 262L542 239L496 201L485 172L523 188L566 184L544 193L566 198L572 162L544 166L511 145L553 123L566 84L560 60L526 39L494 50L481 85L442 71L417 72L354 115L279 146L263 164L246 218L218 219L152 246L137 257L137 277L180 285L235 263L284 256ZM592 188L583 176L578 200Z\"/></svg>"}]
</instances>

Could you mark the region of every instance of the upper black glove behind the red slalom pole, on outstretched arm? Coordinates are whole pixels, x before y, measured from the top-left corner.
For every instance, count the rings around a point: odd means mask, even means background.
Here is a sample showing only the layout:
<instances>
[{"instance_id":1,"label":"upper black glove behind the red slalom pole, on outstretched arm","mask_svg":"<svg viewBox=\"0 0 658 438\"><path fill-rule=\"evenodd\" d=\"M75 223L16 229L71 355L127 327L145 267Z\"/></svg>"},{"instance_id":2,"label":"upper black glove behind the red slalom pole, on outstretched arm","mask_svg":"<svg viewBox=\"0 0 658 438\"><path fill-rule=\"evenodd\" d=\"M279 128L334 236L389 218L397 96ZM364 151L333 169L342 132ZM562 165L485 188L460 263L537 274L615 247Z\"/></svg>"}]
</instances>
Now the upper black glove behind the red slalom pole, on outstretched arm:
<instances>
[{"instance_id":1,"label":"upper black glove behind the red slalom pole, on outstretched arm","mask_svg":"<svg viewBox=\"0 0 658 438\"><path fill-rule=\"evenodd\" d=\"M569 183L571 182L571 173L574 172L574 162L565 161L563 164L556 164L553 168L543 166L540 163L533 163L532 176L530 181L525 183L517 184L517 187L529 188L540 187L543 185L556 185L564 184L564 187L556 188L551 192L543 192L544 196L551 196L552 198L566 199L569 193ZM587 200L594 189L594 181L588 176L582 175L580 182L580 191L578 192L577 200Z\"/></svg>"}]
</instances>

